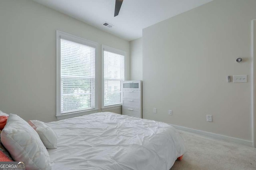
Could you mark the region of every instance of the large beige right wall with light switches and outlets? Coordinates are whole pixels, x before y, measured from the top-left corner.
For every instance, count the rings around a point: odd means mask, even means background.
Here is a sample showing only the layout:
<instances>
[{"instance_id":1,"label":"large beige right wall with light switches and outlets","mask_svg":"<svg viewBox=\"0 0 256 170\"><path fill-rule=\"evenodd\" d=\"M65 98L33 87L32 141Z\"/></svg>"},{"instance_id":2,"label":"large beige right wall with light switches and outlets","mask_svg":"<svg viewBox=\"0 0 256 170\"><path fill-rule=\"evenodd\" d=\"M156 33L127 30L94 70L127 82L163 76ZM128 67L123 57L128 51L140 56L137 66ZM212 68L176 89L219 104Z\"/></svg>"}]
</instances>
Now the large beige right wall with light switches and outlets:
<instances>
[{"instance_id":1,"label":"large beige right wall with light switches and outlets","mask_svg":"<svg viewBox=\"0 0 256 170\"><path fill-rule=\"evenodd\" d=\"M255 7L255 0L214 0L145 28L143 117L252 141ZM248 83L227 83L228 75L248 75Z\"/></svg>"}]
</instances>

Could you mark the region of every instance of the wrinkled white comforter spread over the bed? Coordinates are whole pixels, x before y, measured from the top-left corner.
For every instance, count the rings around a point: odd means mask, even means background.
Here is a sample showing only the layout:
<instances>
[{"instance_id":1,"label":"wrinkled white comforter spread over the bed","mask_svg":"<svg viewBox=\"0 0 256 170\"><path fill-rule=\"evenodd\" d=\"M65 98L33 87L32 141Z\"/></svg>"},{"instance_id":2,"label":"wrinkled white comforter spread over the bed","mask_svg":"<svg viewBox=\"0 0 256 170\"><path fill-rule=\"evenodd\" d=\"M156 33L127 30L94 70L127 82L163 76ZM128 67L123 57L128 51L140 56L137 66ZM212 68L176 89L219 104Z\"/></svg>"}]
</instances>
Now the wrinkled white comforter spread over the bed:
<instances>
[{"instance_id":1,"label":"wrinkled white comforter spread over the bed","mask_svg":"<svg viewBox=\"0 0 256 170\"><path fill-rule=\"evenodd\" d=\"M174 127L104 112L47 123L52 170L169 170L186 148Z\"/></svg>"}]
</instances>

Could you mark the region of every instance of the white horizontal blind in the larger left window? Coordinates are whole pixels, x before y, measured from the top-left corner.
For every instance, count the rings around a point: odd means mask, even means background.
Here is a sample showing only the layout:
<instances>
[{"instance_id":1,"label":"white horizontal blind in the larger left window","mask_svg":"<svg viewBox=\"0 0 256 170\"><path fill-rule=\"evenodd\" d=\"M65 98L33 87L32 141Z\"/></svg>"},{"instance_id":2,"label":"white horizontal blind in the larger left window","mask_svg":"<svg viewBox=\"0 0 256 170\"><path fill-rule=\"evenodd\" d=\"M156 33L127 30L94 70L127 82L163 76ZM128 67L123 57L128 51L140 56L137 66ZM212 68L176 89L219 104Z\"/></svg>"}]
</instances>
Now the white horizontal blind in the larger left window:
<instances>
[{"instance_id":1,"label":"white horizontal blind in the larger left window","mask_svg":"<svg viewBox=\"0 0 256 170\"><path fill-rule=\"evenodd\" d=\"M60 40L60 113L95 107L95 48Z\"/></svg>"}]
</instances>

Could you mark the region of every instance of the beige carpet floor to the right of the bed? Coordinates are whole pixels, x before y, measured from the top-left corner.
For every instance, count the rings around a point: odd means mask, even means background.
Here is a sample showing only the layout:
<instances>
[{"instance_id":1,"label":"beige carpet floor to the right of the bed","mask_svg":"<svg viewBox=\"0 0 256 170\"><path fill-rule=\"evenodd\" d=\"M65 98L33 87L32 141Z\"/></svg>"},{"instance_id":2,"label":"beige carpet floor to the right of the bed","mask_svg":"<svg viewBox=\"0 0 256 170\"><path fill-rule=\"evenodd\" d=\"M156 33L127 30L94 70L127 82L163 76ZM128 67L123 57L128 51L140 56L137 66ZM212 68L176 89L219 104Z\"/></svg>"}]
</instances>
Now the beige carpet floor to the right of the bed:
<instances>
[{"instance_id":1,"label":"beige carpet floor to the right of the bed","mask_svg":"<svg viewBox=\"0 0 256 170\"><path fill-rule=\"evenodd\" d=\"M256 148L179 132L187 152L171 170L256 170Z\"/></svg>"}]
</instances>

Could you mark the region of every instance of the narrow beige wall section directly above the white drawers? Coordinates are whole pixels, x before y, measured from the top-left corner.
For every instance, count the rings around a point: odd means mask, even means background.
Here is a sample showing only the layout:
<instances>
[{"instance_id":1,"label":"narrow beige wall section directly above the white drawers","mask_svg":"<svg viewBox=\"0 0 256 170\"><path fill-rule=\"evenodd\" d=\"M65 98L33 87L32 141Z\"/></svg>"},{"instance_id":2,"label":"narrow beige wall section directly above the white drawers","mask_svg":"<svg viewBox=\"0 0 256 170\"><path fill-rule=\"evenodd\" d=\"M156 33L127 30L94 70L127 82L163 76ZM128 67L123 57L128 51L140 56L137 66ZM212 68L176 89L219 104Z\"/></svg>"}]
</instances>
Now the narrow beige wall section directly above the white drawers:
<instances>
[{"instance_id":1,"label":"narrow beige wall section directly above the white drawers","mask_svg":"<svg viewBox=\"0 0 256 170\"><path fill-rule=\"evenodd\" d=\"M130 41L130 78L142 80L142 38Z\"/></svg>"}]
</instances>

